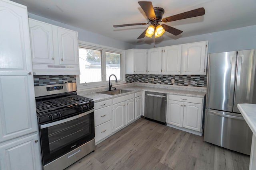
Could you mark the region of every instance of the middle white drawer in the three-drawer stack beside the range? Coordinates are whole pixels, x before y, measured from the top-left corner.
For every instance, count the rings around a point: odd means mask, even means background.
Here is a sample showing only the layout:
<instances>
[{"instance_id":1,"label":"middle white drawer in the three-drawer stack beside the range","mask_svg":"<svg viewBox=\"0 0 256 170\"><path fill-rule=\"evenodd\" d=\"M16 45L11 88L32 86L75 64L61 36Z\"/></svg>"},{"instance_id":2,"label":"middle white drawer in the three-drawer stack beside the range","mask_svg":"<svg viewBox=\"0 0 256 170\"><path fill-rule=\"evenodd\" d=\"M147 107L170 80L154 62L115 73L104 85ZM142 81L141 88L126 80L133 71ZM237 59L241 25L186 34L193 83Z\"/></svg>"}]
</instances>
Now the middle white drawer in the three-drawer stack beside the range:
<instances>
[{"instance_id":1,"label":"middle white drawer in the three-drawer stack beside the range","mask_svg":"<svg viewBox=\"0 0 256 170\"><path fill-rule=\"evenodd\" d=\"M112 106L94 110L95 127L112 119Z\"/></svg>"}]
</instances>

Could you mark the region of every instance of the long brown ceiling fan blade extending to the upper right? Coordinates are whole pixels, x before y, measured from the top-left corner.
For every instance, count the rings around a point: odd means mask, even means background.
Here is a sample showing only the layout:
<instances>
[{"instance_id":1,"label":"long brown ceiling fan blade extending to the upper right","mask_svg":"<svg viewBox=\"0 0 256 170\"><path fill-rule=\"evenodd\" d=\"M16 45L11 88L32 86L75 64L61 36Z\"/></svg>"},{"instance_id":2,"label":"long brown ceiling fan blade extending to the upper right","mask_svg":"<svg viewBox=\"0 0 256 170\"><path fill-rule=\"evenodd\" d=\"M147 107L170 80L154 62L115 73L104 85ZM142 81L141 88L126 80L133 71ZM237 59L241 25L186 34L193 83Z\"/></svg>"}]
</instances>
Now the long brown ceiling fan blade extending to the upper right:
<instances>
[{"instance_id":1,"label":"long brown ceiling fan blade extending to the upper right","mask_svg":"<svg viewBox=\"0 0 256 170\"><path fill-rule=\"evenodd\" d=\"M183 20L186 18L192 18L192 17L197 17L197 16L203 16L205 14L204 8L198 8L195 10L183 12L181 14L177 14L174 16L166 17L162 19L162 22L170 22L170 21L176 21L176 20Z\"/></svg>"}]
</instances>

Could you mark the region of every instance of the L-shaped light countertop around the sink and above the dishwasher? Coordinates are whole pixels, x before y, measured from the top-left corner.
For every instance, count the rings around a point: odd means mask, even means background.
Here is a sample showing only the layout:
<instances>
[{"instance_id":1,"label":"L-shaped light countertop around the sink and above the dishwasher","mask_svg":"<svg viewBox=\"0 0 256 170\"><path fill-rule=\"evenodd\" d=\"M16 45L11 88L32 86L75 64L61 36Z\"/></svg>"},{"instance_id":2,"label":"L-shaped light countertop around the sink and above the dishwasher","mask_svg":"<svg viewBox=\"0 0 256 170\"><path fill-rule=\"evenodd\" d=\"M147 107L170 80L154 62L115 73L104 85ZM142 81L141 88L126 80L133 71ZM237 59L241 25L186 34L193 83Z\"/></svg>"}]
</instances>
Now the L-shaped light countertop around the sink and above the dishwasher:
<instances>
[{"instance_id":1,"label":"L-shaped light countertop around the sink and above the dishwasher","mask_svg":"<svg viewBox=\"0 0 256 170\"><path fill-rule=\"evenodd\" d=\"M132 90L132 92L127 92L124 94L118 94L118 95L108 95L108 94L101 94L101 93L84 93L84 92L78 92L78 95L85 96L87 98L92 98L94 102L100 102L112 98L118 98L120 96L124 96L127 94L132 94L134 92L140 92L140 91L149 91L149 92L159 92L159 93L166 93L166 94L176 94L176 95L183 95L183 96L193 96L193 97L200 97L204 98L206 92L200 92L200 91L192 91L192 90L185 90L185 88L179 89L170 89L170 88L157 88L157 87L147 87L147 86L128 86L123 87L124 90Z\"/></svg>"}]
</instances>

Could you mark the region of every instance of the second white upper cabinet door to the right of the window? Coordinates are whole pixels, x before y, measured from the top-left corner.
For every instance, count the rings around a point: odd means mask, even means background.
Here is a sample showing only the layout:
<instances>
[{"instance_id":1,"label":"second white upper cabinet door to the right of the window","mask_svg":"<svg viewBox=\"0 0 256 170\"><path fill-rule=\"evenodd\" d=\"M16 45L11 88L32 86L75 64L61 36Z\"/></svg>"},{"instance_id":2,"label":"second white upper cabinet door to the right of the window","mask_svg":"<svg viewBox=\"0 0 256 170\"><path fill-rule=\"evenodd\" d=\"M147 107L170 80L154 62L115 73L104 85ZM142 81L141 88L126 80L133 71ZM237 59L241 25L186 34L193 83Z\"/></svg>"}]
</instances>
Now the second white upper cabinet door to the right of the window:
<instances>
[{"instance_id":1,"label":"second white upper cabinet door to the right of the window","mask_svg":"<svg viewBox=\"0 0 256 170\"><path fill-rule=\"evenodd\" d=\"M162 48L148 50L148 74L161 74Z\"/></svg>"}]
</instances>

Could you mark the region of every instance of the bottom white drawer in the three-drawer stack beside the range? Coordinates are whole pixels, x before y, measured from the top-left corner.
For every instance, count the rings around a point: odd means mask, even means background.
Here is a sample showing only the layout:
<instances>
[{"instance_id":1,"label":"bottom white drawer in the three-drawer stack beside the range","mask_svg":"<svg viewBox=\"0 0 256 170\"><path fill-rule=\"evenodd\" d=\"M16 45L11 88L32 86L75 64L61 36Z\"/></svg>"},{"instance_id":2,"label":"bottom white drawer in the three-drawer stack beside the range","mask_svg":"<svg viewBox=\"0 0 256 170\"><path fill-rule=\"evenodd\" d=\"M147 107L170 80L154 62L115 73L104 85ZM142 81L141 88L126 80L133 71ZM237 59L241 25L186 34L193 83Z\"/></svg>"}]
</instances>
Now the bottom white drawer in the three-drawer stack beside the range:
<instances>
[{"instance_id":1,"label":"bottom white drawer in the three-drawer stack beside the range","mask_svg":"<svg viewBox=\"0 0 256 170\"><path fill-rule=\"evenodd\" d=\"M113 131L113 123L112 120L103 123L101 125L98 125L95 127L95 142L100 141L104 137L107 137L110 135Z\"/></svg>"}]
</instances>

